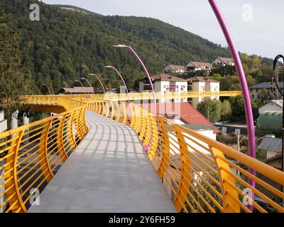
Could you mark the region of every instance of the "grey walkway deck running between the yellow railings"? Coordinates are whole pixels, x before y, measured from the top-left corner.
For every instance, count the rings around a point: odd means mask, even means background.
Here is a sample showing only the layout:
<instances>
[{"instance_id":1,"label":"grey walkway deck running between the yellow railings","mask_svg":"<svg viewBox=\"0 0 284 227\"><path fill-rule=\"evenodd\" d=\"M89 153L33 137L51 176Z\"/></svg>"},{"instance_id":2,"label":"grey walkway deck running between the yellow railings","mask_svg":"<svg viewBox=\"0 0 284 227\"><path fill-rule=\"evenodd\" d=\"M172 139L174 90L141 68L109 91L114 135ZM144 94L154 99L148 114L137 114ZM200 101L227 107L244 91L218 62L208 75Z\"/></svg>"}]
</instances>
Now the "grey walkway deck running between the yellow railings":
<instances>
[{"instance_id":1,"label":"grey walkway deck running between the yellow railings","mask_svg":"<svg viewBox=\"0 0 284 227\"><path fill-rule=\"evenodd\" d=\"M87 125L28 212L176 212L132 128L91 111Z\"/></svg>"}]
</instances>

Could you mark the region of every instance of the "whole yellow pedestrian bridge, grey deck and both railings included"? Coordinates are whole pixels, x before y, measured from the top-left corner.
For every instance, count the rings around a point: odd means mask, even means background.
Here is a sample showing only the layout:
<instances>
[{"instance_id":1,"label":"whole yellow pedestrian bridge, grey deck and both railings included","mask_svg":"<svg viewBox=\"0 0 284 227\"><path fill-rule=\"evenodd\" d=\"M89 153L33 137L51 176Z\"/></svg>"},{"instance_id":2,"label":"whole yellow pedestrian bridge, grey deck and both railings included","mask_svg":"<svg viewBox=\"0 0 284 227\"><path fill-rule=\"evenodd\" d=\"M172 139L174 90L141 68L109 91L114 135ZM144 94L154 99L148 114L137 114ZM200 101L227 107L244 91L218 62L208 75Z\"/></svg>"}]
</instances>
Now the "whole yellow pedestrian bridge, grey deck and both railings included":
<instances>
[{"instance_id":1,"label":"whole yellow pedestrian bridge, grey deck and both railings included","mask_svg":"<svg viewBox=\"0 0 284 227\"><path fill-rule=\"evenodd\" d=\"M57 115L0 134L2 212L284 211L283 172L139 104L102 94L24 102Z\"/></svg>"}]
</instances>

